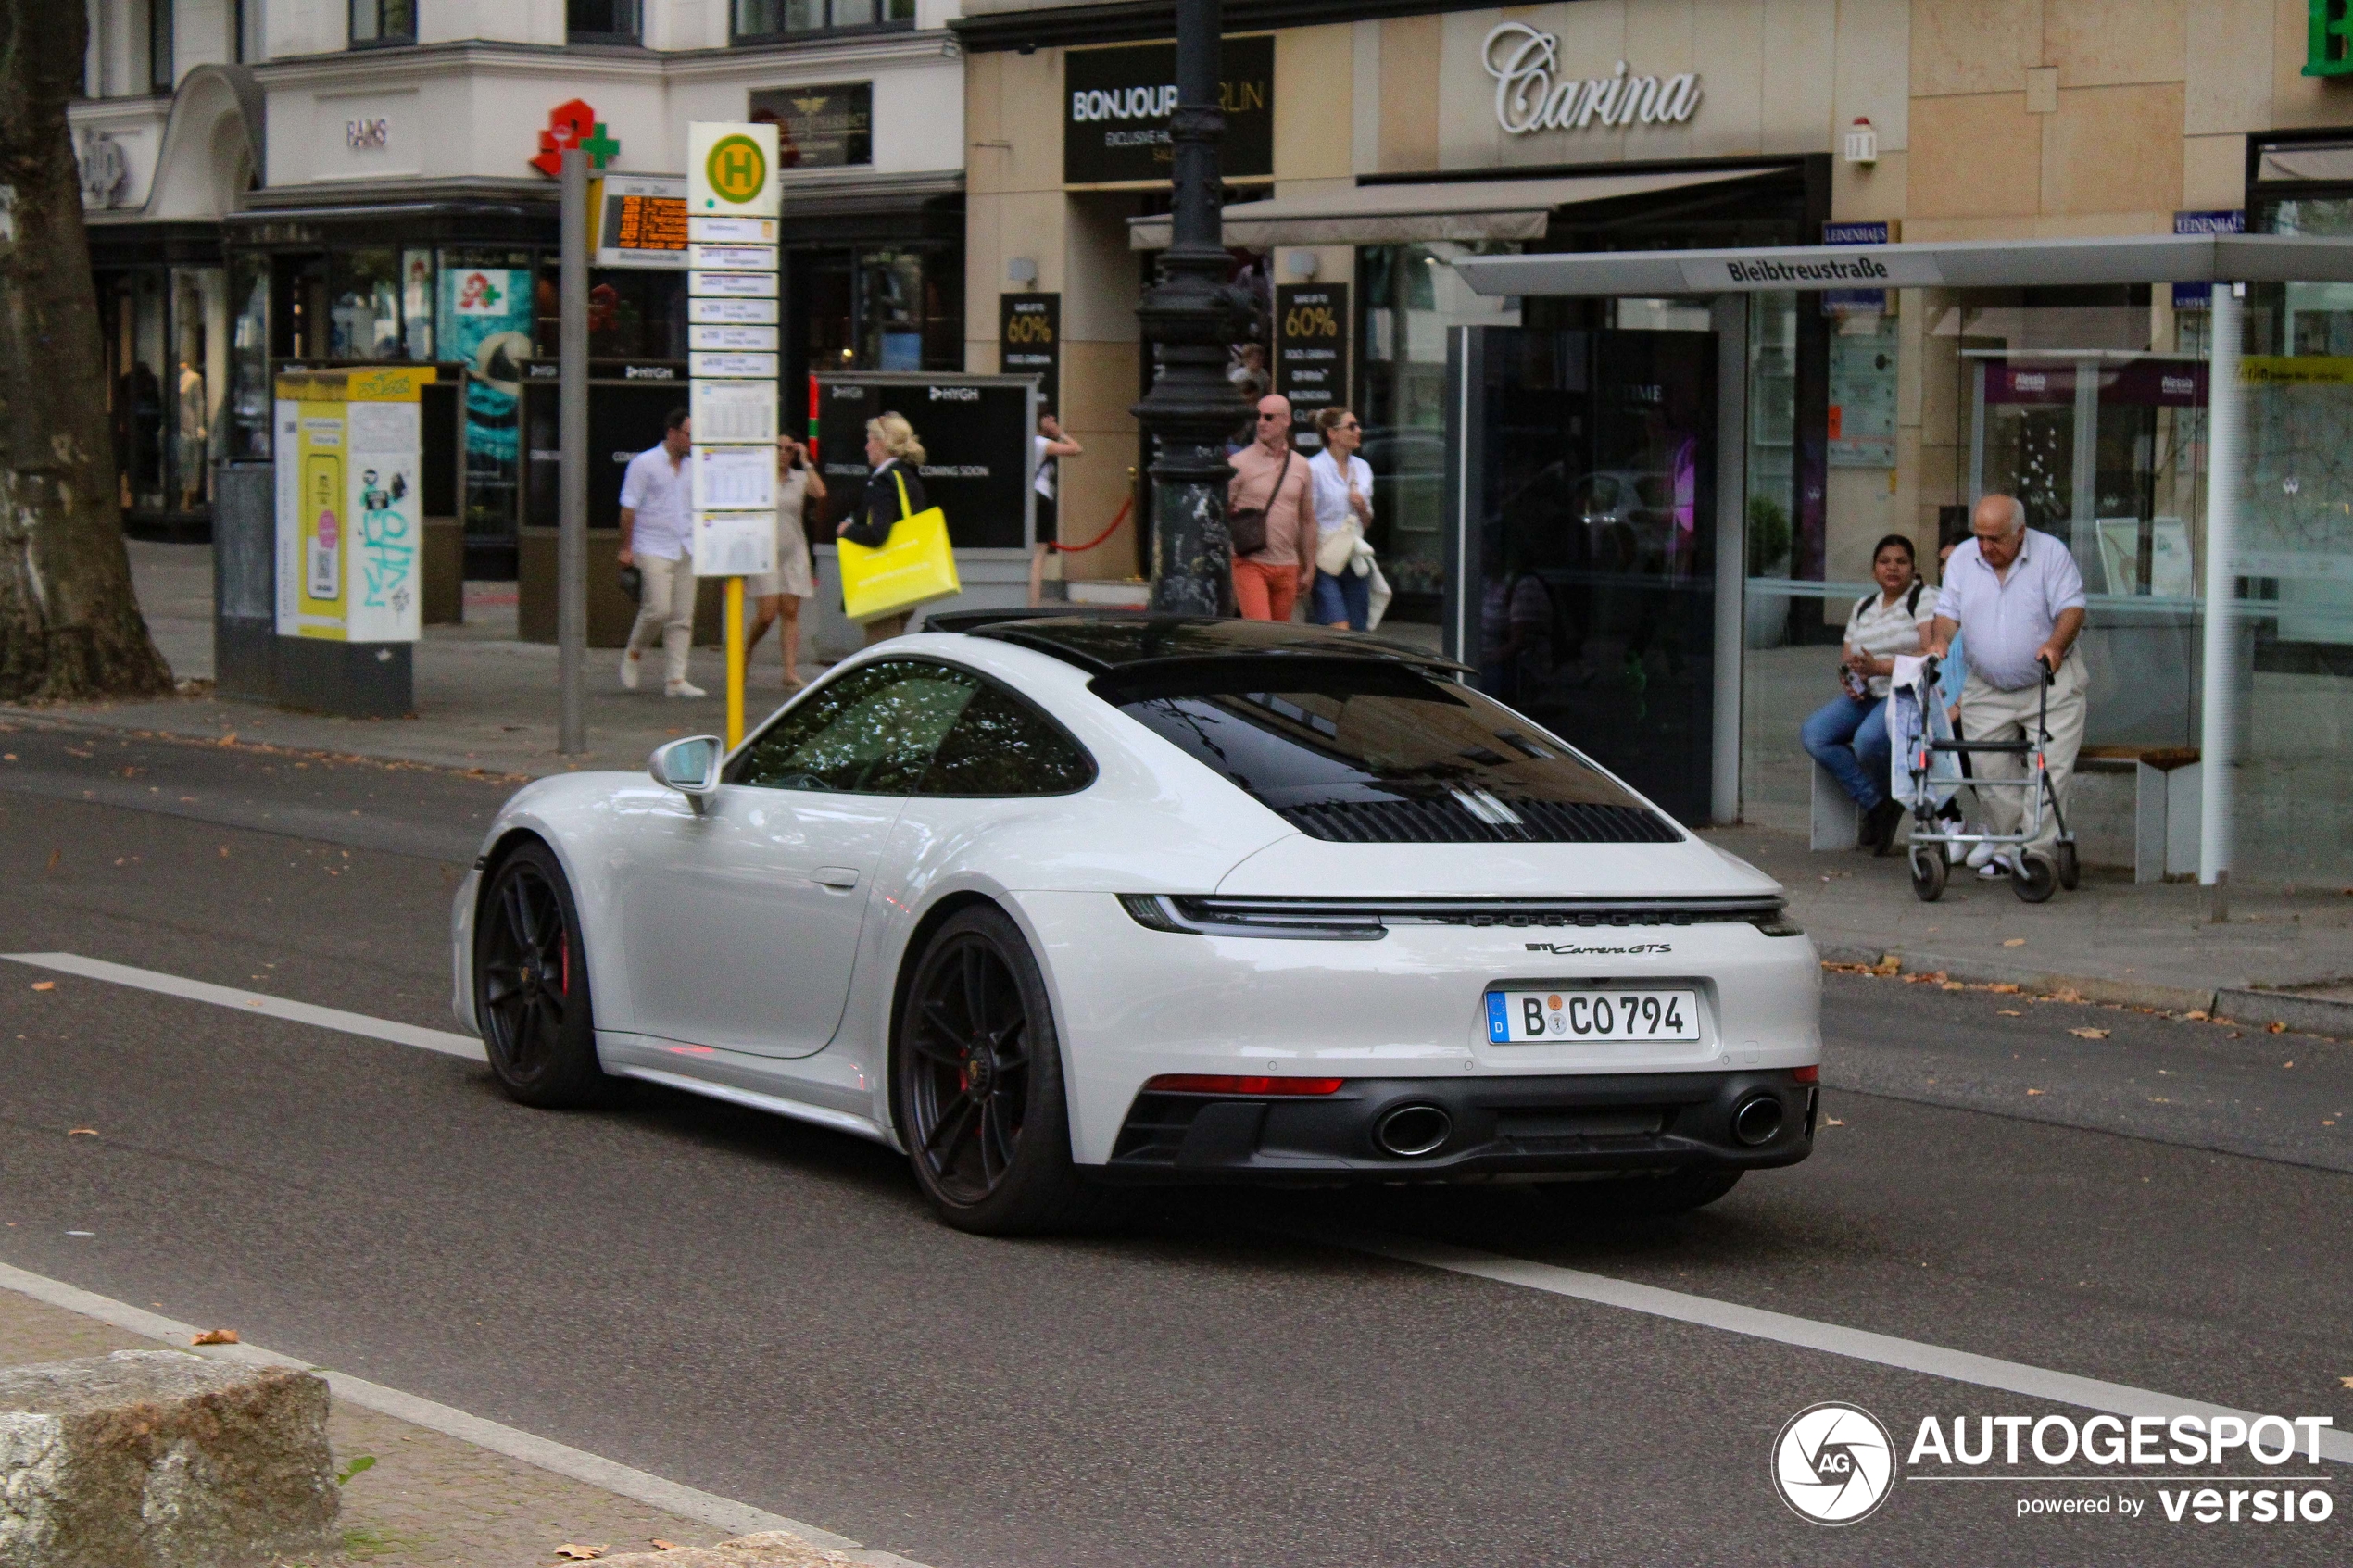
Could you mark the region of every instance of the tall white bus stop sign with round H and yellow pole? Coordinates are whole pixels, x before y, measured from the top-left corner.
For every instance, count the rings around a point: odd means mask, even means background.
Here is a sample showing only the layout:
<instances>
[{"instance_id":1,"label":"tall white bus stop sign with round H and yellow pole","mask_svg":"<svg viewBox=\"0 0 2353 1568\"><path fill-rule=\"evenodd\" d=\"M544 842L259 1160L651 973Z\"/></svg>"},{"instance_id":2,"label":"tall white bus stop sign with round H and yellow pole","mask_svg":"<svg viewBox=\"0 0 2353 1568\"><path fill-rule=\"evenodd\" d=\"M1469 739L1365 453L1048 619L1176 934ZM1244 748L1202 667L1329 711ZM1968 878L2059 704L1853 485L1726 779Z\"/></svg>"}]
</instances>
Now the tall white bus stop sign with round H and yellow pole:
<instances>
[{"instance_id":1,"label":"tall white bus stop sign with round H and yellow pole","mask_svg":"<svg viewBox=\"0 0 2353 1568\"><path fill-rule=\"evenodd\" d=\"M727 745L744 741L744 578L776 569L776 127L687 127L694 576L727 578Z\"/></svg>"}]
</instances>

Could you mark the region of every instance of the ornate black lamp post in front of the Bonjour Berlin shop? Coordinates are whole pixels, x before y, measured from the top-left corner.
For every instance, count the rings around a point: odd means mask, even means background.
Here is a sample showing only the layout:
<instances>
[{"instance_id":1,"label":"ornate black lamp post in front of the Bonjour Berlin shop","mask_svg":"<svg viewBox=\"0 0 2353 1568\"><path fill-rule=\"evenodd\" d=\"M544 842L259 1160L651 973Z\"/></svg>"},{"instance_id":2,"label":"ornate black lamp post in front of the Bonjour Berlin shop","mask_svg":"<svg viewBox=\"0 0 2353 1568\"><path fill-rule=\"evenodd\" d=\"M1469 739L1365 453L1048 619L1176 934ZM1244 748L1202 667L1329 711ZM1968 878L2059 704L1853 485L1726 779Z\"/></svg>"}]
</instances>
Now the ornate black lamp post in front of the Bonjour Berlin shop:
<instances>
[{"instance_id":1,"label":"ornate black lamp post in front of the Bonjour Berlin shop","mask_svg":"<svg viewBox=\"0 0 2353 1568\"><path fill-rule=\"evenodd\" d=\"M1226 381L1233 294L1219 235L1217 143L1221 0L1176 0L1174 212L1160 282L1136 306L1153 346L1153 390L1134 407L1153 440L1153 609L1217 616L1231 592L1226 435L1242 400Z\"/></svg>"}]
</instances>

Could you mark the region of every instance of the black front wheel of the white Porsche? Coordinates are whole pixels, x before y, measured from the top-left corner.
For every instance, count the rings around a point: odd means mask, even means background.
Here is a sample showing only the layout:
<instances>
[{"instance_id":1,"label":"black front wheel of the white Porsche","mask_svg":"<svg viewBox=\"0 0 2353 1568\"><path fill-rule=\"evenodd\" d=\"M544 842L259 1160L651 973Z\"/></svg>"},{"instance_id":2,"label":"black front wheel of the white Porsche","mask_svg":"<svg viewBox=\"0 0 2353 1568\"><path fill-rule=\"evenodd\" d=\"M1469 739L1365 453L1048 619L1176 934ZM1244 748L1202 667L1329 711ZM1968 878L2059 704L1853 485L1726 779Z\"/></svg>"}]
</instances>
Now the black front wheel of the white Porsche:
<instances>
[{"instance_id":1,"label":"black front wheel of the white Porsche","mask_svg":"<svg viewBox=\"0 0 2353 1568\"><path fill-rule=\"evenodd\" d=\"M473 1011L489 1070L522 1105L588 1105L607 1088L595 1058L588 952L572 889L546 844L501 860L475 907Z\"/></svg>"}]
</instances>

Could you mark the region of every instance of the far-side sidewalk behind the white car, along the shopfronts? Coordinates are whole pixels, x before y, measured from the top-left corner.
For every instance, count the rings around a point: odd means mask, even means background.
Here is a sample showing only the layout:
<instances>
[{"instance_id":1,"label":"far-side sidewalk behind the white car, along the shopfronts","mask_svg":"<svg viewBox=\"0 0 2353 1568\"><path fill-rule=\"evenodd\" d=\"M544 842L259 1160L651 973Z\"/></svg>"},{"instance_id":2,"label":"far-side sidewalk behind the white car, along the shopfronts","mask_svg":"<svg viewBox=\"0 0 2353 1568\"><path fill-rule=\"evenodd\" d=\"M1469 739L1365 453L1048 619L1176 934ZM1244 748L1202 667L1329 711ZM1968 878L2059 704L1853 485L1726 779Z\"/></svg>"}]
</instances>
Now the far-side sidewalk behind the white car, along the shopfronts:
<instances>
[{"instance_id":1,"label":"far-side sidewalk behind the white car, along the shopfronts","mask_svg":"<svg viewBox=\"0 0 2353 1568\"><path fill-rule=\"evenodd\" d=\"M132 574L158 644L181 675L212 672L212 552L132 543ZM515 642L511 583L468 583L466 625L426 628L416 646L416 719L329 719L191 696L40 710L42 719L294 750L355 752L536 778L565 769L640 769L645 755L722 724L718 696L671 701L624 691L616 656L588 665L586 757L555 755L555 649ZM758 722L784 701L774 649L753 677ZM694 679L722 689L718 654L694 651ZM805 675L814 675L805 665ZM2024 905L2007 884L1958 875L1934 905L1911 893L1899 856L1809 853L1774 827L1708 837L1772 872L1824 959L1946 971L1953 978L2073 990L2089 999L2217 1011L2247 1023L2353 1039L2353 889L2233 886L2231 922L2205 922L2191 884L2144 884L2085 867L2082 889Z\"/></svg>"}]
</instances>

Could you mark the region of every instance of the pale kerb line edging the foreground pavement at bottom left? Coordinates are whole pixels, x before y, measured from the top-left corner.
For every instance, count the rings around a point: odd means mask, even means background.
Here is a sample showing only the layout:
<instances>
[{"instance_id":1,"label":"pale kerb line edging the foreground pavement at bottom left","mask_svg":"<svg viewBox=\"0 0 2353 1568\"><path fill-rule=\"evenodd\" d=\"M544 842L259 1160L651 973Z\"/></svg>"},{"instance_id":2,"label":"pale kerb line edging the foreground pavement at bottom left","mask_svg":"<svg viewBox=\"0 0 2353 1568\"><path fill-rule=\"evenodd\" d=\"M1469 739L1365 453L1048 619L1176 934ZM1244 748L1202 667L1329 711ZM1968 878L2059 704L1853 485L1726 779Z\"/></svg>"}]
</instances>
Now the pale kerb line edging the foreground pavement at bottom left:
<instances>
[{"instance_id":1,"label":"pale kerb line edging the foreground pavement at bottom left","mask_svg":"<svg viewBox=\"0 0 2353 1568\"><path fill-rule=\"evenodd\" d=\"M859 1563L868 1563L868 1568L922 1568L920 1563L913 1563L904 1556L894 1556L889 1552L866 1552L859 1547L859 1542L845 1535L835 1535L833 1530L819 1530L814 1523L800 1523L798 1519L786 1519L784 1514L769 1514L767 1509L755 1509L748 1502L720 1497L718 1493L704 1493L692 1486L680 1486L678 1481L664 1481L661 1476L647 1474L642 1469L631 1469L628 1465L616 1465L614 1460L584 1453L581 1448L551 1443L544 1436L532 1436L529 1432L518 1432L515 1427L501 1427L494 1420L482 1420L480 1415L466 1415L464 1410L454 1410L445 1403L433 1403L431 1399L419 1399L416 1394L402 1394L400 1389L388 1389L381 1382L367 1382L365 1378L353 1378L351 1373L336 1373L325 1366L311 1366L308 1361L296 1361L294 1356L282 1356L273 1349L261 1349L259 1345L202 1345L191 1349L188 1342L195 1338L193 1324L179 1324L158 1312L146 1312L144 1307L118 1302L111 1295L94 1295L78 1286L68 1286L61 1279L49 1279L45 1274L28 1274L26 1269L14 1269L0 1262L0 1288L16 1291L19 1295L31 1295L33 1300L49 1302L52 1307L64 1307L66 1312L80 1312L82 1316L94 1316L101 1324L113 1324L115 1328L151 1340L162 1340L165 1345L186 1349L193 1356L212 1356L216 1361L240 1361L245 1366L285 1366L299 1373L318 1373L320 1378L327 1380L327 1387L334 1389L336 1399L348 1399L355 1406L379 1410L384 1415L395 1415L409 1425L426 1427L445 1436L464 1439L478 1448L504 1453L511 1460L522 1460L525 1465L536 1465L539 1469L551 1469L560 1476L586 1481L588 1486L600 1486L607 1493L619 1493L621 1497L635 1497L638 1502L649 1502L659 1509L678 1514L680 1519L694 1519L718 1530L732 1530L736 1535L753 1535L758 1530L791 1530L793 1535L807 1540L812 1547L842 1552Z\"/></svg>"}]
</instances>

